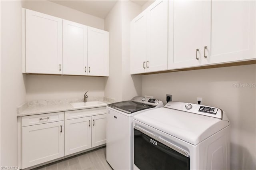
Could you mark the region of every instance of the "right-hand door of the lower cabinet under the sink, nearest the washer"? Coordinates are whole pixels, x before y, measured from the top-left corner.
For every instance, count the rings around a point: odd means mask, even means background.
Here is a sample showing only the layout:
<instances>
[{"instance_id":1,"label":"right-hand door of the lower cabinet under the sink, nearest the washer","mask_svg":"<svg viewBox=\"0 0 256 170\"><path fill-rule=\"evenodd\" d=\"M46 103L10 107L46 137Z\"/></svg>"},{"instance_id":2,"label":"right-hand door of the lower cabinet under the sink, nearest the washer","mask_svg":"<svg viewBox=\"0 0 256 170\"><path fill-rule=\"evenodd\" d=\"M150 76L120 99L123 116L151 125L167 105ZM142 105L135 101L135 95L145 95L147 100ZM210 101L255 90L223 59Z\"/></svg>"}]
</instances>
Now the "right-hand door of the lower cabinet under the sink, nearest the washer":
<instances>
[{"instance_id":1,"label":"right-hand door of the lower cabinet under the sink, nearest the washer","mask_svg":"<svg viewBox=\"0 0 256 170\"><path fill-rule=\"evenodd\" d=\"M106 143L106 114L92 116L92 147Z\"/></svg>"}]
</instances>

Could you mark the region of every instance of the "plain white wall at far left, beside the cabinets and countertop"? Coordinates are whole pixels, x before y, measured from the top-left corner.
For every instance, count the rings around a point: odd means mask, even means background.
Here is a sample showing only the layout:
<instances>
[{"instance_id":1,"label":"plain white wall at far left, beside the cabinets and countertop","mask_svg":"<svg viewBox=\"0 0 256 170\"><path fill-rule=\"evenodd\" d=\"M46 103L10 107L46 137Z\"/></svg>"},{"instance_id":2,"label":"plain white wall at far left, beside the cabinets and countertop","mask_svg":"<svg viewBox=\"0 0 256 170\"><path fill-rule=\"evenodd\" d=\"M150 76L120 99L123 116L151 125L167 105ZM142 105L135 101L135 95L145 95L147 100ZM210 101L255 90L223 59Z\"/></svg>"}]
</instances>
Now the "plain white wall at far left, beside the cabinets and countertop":
<instances>
[{"instance_id":1,"label":"plain white wall at far left, beside the cabinets and countertop","mask_svg":"<svg viewBox=\"0 0 256 170\"><path fill-rule=\"evenodd\" d=\"M1 1L1 166L18 166L17 107L25 102L21 2Z\"/></svg>"}]
</instances>

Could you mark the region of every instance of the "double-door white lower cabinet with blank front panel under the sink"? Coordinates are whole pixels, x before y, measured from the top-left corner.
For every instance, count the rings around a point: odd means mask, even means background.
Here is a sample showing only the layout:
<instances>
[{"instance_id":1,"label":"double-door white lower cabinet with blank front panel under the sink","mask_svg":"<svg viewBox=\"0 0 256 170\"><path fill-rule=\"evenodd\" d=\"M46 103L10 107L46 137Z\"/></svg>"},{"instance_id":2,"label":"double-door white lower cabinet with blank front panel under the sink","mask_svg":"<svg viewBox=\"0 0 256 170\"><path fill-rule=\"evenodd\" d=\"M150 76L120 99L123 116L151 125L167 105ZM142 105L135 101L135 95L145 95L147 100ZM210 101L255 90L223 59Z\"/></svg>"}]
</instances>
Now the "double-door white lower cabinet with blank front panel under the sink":
<instances>
[{"instance_id":1,"label":"double-door white lower cabinet with blank front panel under the sink","mask_svg":"<svg viewBox=\"0 0 256 170\"><path fill-rule=\"evenodd\" d=\"M65 119L69 119L65 120L65 156L106 144L106 108L104 111L102 114L102 108L94 108L65 112ZM70 113L83 113L84 117L70 119Z\"/></svg>"}]
</instances>

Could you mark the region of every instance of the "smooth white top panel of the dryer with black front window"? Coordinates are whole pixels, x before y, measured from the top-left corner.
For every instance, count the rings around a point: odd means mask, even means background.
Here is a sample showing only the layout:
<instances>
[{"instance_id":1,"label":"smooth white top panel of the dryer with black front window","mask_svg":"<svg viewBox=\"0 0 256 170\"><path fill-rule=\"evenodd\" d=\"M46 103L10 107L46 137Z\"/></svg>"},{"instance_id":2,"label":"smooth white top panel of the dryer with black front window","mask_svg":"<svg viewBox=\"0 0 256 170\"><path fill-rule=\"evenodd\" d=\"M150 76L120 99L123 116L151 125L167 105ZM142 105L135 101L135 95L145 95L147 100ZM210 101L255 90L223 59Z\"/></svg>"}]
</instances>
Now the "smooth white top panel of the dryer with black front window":
<instances>
[{"instance_id":1,"label":"smooth white top panel of the dryer with black front window","mask_svg":"<svg viewBox=\"0 0 256 170\"><path fill-rule=\"evenodd\" d=\"M134 119L194 145L229 125L228 121L166 107L145 111Z\"/></svg>"}]
</instances>

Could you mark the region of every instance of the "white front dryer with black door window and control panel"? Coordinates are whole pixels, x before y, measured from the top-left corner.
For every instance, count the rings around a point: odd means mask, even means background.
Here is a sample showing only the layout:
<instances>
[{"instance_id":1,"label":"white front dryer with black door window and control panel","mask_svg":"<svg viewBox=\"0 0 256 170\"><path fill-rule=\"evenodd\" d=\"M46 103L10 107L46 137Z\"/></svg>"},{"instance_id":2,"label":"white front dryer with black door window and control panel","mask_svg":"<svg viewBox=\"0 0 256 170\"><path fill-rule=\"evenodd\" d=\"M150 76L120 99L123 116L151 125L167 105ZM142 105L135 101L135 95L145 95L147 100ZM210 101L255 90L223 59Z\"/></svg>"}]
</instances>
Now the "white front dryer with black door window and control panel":
<instances>
[{"instance_id":1,"label":"white front dryer with black door window and control panel","mask_svg":"<svg viewBox=\"0 0 256 170\"><path fill-rule=\"evenodd\" d=\"M230 123L221 109L168 102L134 116L134 169L230 170Z\"/></svg>"}]
</instances>

